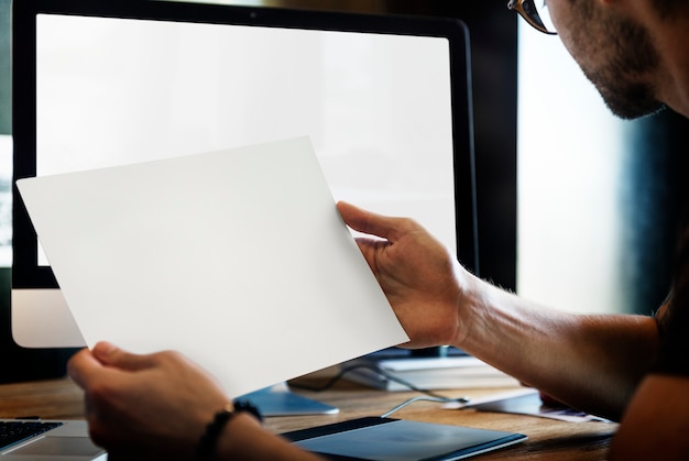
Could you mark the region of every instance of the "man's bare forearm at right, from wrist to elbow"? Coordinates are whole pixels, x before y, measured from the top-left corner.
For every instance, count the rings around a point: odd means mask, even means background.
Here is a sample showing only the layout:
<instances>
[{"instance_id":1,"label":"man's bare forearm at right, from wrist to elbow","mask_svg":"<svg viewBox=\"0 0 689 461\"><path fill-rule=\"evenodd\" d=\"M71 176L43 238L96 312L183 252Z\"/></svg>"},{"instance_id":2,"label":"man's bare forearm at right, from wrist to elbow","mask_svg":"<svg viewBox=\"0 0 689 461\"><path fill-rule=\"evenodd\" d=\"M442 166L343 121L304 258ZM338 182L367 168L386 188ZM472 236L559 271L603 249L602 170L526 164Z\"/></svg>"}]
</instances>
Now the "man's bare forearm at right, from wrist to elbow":
<instances>
[{"instance_id":1,"label":"man's bare forearm at right, from wrist to elbow","mask_svg":"<svg viewBox=\"0 0 689 461\"><path fill-rule=\"evenodd\" d=\"M621 417L655 359L653 318L561 312L478 286L456 345L576 408Z\"/></svg>"}]
</instances>

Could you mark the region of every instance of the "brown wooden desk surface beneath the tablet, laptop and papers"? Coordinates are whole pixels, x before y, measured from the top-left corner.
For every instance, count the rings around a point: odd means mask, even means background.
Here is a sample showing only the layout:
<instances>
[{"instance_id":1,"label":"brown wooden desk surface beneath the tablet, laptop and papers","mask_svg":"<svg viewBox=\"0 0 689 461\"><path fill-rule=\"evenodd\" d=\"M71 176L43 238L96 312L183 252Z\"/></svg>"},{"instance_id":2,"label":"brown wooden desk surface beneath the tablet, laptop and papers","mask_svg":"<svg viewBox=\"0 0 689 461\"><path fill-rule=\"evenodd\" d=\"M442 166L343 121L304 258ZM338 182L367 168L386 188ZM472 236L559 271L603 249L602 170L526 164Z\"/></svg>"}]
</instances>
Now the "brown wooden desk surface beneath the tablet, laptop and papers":
<instances>
[{"instance_id":1,"label":"brown wooden desk surface beneath the tablet, laptop and papers","mask_svg":"<svg viewBox=\"0 0 689 461\"><path fill-rule=\"evenodd\" d=\"M313 378L297 383L314 383ZM504 391L504 389L502 389ZM275 431L303 429L310 426L336 422L359 416L379 416L397 404L417 396L416 393L386 393L340 382L333 389L316 393L296 391L299 394L337 406L337 415L267 418L265 426ZM442 392L451 397L479 397L496 391L470 389ZM69 380L40 381L0 385L0 418L18 416L74 419L84 417L81 391ZM481 455L481 460L602 460L616 429L608 422L561 422L531 416L478 413L472 410L442 409L439 404L417 402L395 413L393 417L428 422L469 426L485 429L526 433L529 440L494 453Z\"/></svg>"}]
</instances>

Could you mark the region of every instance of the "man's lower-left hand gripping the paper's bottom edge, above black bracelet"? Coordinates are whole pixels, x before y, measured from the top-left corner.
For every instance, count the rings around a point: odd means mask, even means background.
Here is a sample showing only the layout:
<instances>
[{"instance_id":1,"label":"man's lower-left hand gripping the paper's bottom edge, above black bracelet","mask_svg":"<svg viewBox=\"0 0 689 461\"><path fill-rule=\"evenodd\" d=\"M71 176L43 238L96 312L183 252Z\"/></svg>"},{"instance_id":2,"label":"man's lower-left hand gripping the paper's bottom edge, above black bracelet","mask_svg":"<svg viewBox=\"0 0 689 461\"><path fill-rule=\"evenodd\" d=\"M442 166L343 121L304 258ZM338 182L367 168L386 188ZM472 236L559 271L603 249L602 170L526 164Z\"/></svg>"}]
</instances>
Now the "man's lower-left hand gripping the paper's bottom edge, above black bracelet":
<instances>
[{"instance_id":1,"label":"man's lower-left hand gripping the paper's bottom edge, above black bracelet","mask_svg":"<svg viewBox=\"0 0 689 461\"><path fill-rule=\"evenodd\" d=\"M94 441L121 459L192 459L216 411L230 400L204 370L176 352L136 355L98 343L72 358L85 389Z\"/></svg>"}]
</instances>

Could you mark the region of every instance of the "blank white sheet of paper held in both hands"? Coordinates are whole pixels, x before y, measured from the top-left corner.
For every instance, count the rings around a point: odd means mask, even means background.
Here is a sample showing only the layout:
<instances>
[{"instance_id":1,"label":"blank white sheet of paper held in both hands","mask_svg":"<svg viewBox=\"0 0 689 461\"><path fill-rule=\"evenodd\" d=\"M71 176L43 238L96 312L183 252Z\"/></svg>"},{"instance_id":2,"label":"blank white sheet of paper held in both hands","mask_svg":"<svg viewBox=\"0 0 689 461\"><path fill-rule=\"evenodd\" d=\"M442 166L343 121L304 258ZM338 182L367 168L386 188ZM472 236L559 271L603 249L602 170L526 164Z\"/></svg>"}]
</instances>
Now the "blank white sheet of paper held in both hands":
<instances>
[{"instance_id":1,"label":"blank white sheet of paper held in both hands","mask_svg":"<svg viewBox=\"0 0 689 461\"><path fill-rule=\"evenodd\" d=\"M18 182L86 342L234 397L408 340L307 138Z\"/></svg>"}]
</instances>

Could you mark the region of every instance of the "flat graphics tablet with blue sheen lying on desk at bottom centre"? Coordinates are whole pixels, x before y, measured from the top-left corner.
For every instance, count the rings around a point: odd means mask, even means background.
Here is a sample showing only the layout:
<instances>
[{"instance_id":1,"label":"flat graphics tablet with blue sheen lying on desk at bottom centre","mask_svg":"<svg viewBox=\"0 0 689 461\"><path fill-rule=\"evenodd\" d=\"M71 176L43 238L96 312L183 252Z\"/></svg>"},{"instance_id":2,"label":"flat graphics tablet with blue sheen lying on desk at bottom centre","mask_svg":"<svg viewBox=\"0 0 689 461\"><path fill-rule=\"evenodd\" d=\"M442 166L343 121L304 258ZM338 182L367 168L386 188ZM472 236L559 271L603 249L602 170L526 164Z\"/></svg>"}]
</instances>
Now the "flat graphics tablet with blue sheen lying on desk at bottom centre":
<instances>
[{"instance_id":1,"label":"flat graphics tablet with blue sheen lying on desk at bottom centre","mask_svg":"<svg viewBox=\"0 0 689 461\"><path fill-rule=\"evenodd\" d=\"M331 460L445 461L493 451L527 439L523 433L364 417L283 433Z\"/></svg>"}]
</instances>

